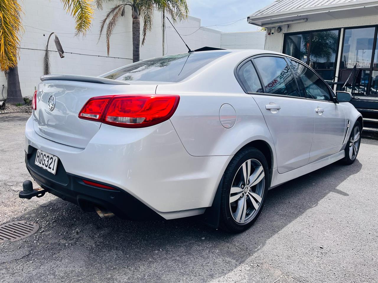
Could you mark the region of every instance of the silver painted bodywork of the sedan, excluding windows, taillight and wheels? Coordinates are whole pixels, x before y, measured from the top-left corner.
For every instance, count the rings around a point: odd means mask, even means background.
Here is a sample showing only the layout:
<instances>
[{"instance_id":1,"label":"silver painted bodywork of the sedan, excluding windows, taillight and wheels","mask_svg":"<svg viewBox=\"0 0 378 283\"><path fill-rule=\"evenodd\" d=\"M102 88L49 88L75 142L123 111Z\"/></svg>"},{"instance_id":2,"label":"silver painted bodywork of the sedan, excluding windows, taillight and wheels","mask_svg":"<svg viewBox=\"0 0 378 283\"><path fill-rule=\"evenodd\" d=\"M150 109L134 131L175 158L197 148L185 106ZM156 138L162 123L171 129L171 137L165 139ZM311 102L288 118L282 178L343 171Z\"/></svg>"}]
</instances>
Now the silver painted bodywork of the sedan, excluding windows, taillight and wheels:
<instances>
[{"instance_id":1,"label":"silver painted bodywork of the sedan, excluding windows, taillight and wheels","mask_svg":"<svg viewBox=\"0 0 378 283\"><path fill-rule=\"evenodd\" d=\"M56 155L68 173L116 186L166 219L211 206L229 161L253 141L270 148L271 188L343 158L352 129L347 120L352 126L361 114L350 103L245 93L234 68L257 54L278 53L234 51L178 83L43 80L25 151L32 146ZM174 115L158 125L119 128L78 118L91 97L155 93L180 95ZM51 94L54 111L47 105ZM265 109L272 103L281 109Z\"/></svg>"}]
</instances>

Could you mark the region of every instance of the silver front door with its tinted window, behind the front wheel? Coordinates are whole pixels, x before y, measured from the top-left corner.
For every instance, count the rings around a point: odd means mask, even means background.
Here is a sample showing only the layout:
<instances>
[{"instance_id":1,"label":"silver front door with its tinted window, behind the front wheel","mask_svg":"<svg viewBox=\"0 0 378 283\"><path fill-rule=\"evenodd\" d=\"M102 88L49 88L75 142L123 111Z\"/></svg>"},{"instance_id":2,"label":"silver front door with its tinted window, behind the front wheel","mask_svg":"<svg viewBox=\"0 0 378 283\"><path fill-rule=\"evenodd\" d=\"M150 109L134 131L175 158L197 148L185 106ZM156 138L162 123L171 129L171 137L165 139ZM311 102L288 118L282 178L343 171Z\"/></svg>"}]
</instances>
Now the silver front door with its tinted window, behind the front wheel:
<instances>
[{"instance_id":1,"label":"silver front door with its tinted window, behind the front wheel","mask_svg":"<svg viewBox=\"0 0 378 283\"><path fill-rule=\"evenodd\" d=\"M314 138L308 163L340 151L344 141L346 124L342 105L334 103L333 92L328 85L310 68L291 61L299 76L300 85L311 103L315 119Z\"/></svg>"}]
</instances>

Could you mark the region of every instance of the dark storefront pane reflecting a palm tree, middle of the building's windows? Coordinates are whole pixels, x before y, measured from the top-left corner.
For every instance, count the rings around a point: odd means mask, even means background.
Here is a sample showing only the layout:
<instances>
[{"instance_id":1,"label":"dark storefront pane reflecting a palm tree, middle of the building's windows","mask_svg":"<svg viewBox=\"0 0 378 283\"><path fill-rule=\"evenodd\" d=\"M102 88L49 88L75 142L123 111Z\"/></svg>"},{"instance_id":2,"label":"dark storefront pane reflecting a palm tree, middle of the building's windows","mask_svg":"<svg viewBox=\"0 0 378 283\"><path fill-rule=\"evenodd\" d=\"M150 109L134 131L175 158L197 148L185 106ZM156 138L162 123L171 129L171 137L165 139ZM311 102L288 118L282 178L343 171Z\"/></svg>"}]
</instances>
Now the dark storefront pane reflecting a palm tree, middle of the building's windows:
<instances>
[{"instance_id":1,"label":"dark storefront pane reflecting a palm tree, middle of the building's windows","mask_svg":"<svg viewBox=\"0 0 378 283\"><path fill-rule=\"evenodd\" d=\"M310 45L310 67L313 69L334 69L339 31L313 32ZM320 74L320 72L319 72ZM327 77L330 77L327 73ZM333 73L332 73L333 76ZM325 77L323 77L325 79Z\"/></svg>"}]
</instances>

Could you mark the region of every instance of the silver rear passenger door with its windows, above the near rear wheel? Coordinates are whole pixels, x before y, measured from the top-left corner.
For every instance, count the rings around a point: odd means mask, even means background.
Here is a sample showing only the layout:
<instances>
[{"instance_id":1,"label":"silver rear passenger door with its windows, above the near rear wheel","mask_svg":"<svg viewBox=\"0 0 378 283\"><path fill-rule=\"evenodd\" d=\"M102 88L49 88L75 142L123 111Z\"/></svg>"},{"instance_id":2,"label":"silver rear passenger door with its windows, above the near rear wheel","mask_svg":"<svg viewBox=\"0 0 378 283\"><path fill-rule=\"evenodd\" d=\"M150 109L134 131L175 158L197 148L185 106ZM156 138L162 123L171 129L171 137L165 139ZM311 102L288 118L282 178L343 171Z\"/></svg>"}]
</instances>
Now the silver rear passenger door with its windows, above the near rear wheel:
<instances>
[{"instance_id":1,"label":"silver rear passenger door with its windows, above the near rear wheel","mask_svg":"<svg viewBox=\"0 0 378 283\"><path fill-rule=\"evenodd\" d=\"M249 89L248 93L259 105L273 137L278 172L285 173L306 165L314 131L311 104L301 94L285 58L269 55L255 57L252 62L262 85L256 79L249 79L251 85L259 84L259 88ZM239 77L257 78L253 65L249 67L252 72L243 71L243 66L240 67Z\"/></svg>"}]
</instances>

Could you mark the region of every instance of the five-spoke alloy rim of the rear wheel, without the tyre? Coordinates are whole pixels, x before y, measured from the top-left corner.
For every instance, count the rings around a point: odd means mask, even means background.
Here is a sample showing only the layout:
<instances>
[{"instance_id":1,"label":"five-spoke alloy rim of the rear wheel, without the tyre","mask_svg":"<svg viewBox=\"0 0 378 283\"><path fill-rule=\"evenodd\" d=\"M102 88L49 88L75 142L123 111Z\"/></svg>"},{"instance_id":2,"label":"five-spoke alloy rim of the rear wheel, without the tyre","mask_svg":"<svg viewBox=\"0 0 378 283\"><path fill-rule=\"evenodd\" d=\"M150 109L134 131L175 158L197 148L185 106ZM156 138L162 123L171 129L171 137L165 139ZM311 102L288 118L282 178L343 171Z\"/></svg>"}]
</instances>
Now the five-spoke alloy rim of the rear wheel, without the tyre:
<instances>
[{"instance_id":1,"label":"five-spoke alloy rim of the rear wheel, without the tyre","mask_svg":"<svg viewBox=\"0 0 378 283\"><path fill-rule=\"evenodd\" d=\"M265 172L260 161L245 161L232 181L229 203L232 218L238 224L249 223L262 203Z\"/></svg>"}]
</instances>

